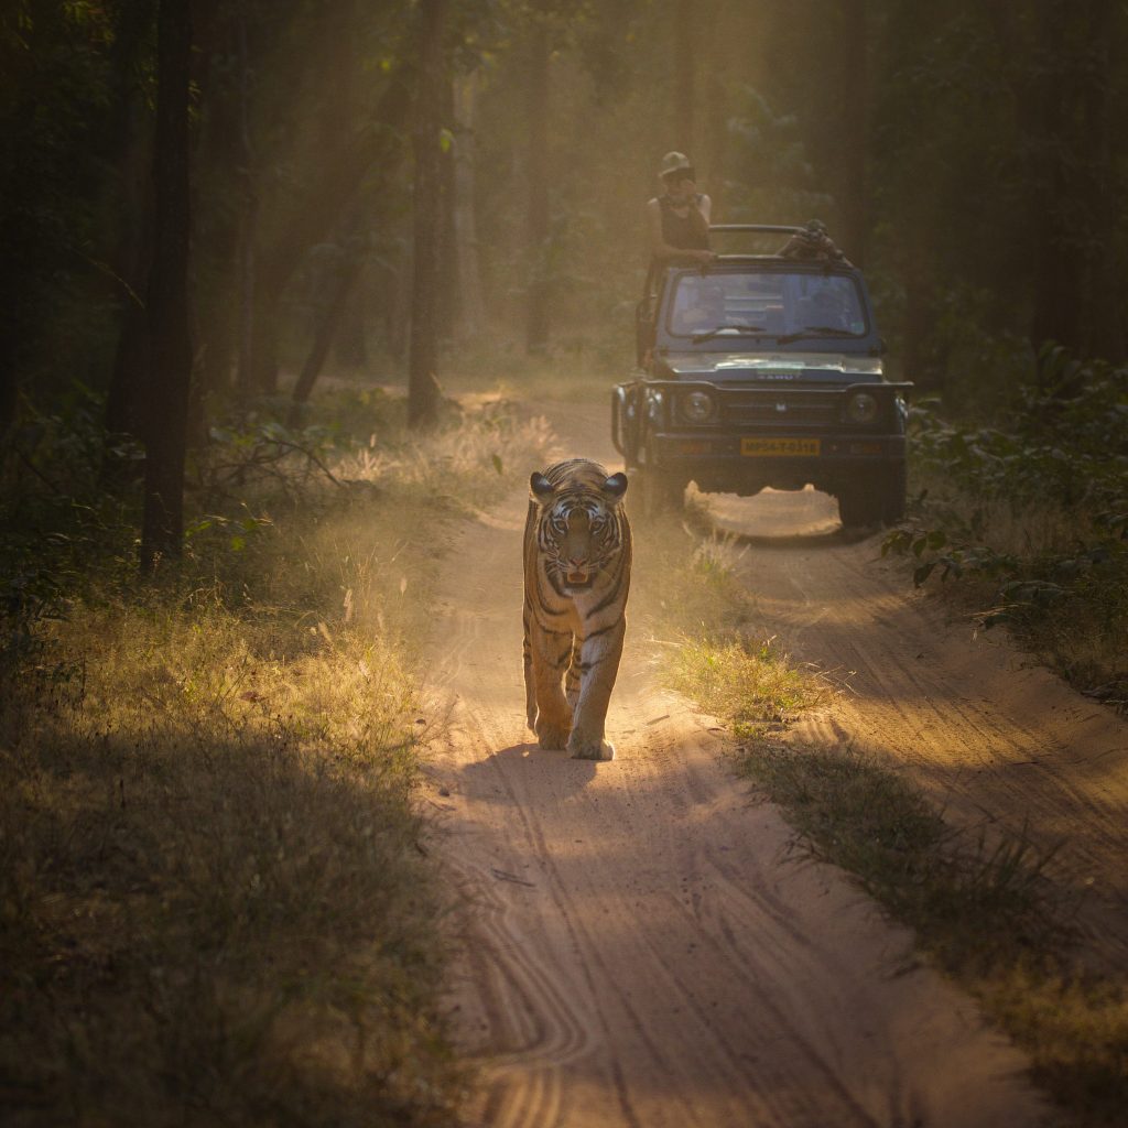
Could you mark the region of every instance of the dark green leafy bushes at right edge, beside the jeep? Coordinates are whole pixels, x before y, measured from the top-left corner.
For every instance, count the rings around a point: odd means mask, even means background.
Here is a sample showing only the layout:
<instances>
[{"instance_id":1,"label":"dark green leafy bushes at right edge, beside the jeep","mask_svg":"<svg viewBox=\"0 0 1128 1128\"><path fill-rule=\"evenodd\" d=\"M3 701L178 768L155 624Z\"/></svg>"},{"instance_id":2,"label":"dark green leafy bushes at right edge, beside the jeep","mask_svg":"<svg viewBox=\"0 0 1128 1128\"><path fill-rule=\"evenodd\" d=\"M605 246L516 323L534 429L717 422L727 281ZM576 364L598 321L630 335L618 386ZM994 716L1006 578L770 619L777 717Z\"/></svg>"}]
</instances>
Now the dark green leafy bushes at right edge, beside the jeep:
<instances>
[{"instance_id":1,"label":"dark green leafy bushes at right edge, beside the jeep","mask_svg":"<svg viewBox=\"0 0 1128 1128\"><path fill-rule=\"evenodd\" d=\"M1128 368L1047 350L1005 425L913 408L915 522L883 555L980 585L984 627L1007 624L1067 677L1128 700ZM986 603L986 606L984 606Z\"/></svg>"}]
</instances>

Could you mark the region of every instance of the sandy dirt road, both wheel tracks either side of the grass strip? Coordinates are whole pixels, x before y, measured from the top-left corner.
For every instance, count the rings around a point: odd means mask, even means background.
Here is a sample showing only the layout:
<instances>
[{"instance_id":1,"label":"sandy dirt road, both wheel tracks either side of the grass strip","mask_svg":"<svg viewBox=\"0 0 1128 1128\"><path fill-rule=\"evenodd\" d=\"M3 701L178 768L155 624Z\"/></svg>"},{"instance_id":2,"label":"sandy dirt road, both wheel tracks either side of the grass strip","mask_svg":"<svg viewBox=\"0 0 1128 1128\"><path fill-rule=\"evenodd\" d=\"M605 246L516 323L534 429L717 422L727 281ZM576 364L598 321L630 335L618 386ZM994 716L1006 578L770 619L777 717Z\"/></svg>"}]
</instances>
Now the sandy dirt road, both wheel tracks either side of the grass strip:
<instances>
[{"instance_id":1,"label":"sandy dirt road, both wheel tracks either side of the grass strip","mask_svg":"<svg viewBox=\"0 0 1128 1128\"><path fill-rule=\"evenodd\" d=\"M570 453L614 465L601 411L552 417ZM1041 1122L1022 1056L915 963L910 937L848 879L788 853L787 827L732 777L717 730L658 688L645 640L628 642L611 702L616 760L579 763L529 741L525 504L514 495L462 535L433 651L451 729L428 795L473 906L451 1005L484 1064L477 1120ZM1117 865L1128 726L1022 669L1005 645L971 643L872 565L875 539L846 543L828 506L808 493L715 509L752 536L742 566L765 622L801 656L854 671L851 694L807 735L907 765L960 817L1067 832L1059 872L1089 889L1094 942L1114 957L1128 915Z\"/></svg>"}]
</instances>

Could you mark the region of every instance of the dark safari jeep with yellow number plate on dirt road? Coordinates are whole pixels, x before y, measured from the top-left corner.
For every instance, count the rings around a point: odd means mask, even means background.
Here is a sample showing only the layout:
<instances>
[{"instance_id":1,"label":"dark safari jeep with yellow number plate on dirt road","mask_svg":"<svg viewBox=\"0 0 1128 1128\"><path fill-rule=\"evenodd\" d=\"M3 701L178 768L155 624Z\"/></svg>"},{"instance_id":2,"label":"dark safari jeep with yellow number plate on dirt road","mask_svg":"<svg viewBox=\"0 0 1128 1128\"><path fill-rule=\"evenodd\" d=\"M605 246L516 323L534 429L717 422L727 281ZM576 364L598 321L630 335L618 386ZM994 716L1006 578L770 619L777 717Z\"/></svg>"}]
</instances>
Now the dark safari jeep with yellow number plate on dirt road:
<instances>
[{"instance_id":1,"label":"dark safari jeep with yellow number plate on dirt road","mask_svg":"<svg viewBox=\"0 0 1128 1128\"><path fill-rule=\"evenodd\" d=\"M807 235L712 230L776 244ZM911 384L884 378L884 351L865 281L840 257L721 254L652 272L637 368L611 400L643 511L680 506L689 482L743 496L810 484L838 499L844 526L900 520Z\"/></svg>"}]
</instances>

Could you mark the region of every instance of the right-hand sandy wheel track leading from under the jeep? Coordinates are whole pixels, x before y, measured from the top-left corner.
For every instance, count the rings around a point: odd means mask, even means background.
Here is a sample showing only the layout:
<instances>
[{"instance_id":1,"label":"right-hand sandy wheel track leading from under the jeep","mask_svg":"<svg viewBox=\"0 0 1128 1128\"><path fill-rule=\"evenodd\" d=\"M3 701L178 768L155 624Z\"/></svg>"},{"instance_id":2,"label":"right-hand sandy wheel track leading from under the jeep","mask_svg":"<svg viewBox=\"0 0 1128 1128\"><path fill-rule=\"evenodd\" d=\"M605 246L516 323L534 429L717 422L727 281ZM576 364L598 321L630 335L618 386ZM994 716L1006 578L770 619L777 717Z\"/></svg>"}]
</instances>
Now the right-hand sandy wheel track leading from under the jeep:
<instances>
[{"instance_id":1,"label":"right-hand sandy wheel track leading from under the jeep","mask_svg":"<svg viewBox=\"0 0 1128 1128\"><path fill-rule=\"evenodd\" d=\"M1128 723L1019 652L907 591L880 538L803 544L832 502L813 492L710 499L749 539L742 570L794 656L849 673L849 693L797 739L849 743L908 770L964 826L1055 852L1048 872L1079 904L1085 954L1128 968Z\"/></svg>"}]
</instances>

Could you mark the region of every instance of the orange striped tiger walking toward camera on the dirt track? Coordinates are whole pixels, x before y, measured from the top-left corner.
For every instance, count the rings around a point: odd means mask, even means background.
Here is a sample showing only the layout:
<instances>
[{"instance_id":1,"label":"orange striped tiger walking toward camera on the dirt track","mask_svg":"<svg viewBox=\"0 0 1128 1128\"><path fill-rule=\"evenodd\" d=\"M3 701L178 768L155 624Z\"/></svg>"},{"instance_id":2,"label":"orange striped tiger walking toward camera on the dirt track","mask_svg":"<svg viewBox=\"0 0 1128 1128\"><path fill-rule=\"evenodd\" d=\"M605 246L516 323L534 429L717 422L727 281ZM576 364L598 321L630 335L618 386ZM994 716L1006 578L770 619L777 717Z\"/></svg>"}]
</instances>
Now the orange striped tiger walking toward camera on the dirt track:
<instances>
[{"instance_id":1,"label":"orange striped tiger walking toward camera on the dirt track","mask_svg":"<svg viewBox=\"0 0 1128 1128\"><path fill-rule=\"evenodd\" d=\"M545 749L610 760L603 734L631 590L625 474L585 458L529 478L525 521L525 699ZM564 677L564 689L561 678Z\"/></svg>"}]
</instances>

